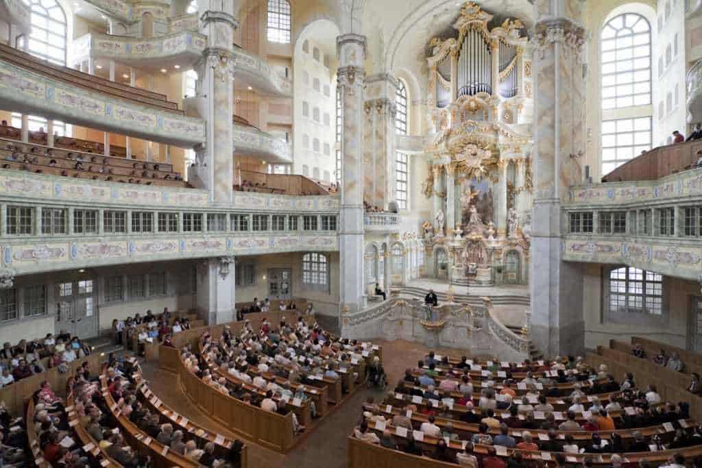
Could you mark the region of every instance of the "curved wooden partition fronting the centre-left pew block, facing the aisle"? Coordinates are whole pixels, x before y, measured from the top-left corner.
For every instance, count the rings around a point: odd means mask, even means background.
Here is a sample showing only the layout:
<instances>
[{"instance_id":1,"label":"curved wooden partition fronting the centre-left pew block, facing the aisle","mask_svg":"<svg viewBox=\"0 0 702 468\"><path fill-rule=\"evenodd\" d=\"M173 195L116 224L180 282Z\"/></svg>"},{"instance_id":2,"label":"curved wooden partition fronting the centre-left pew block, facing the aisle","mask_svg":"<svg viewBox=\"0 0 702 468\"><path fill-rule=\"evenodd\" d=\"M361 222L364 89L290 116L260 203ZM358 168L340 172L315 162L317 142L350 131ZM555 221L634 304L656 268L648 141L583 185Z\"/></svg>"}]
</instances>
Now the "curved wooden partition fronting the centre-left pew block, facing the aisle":
<instances>
[{"instance_id":1,"label":"curved wooden partition fronting the centre-left pew block, facing the aisle","mask_svg":"<svg viewBox=\"0 0 702 468\"><path fill-rule=\"evenodd\" d=\"M279 415L247 405L203 382L179 360L178 376L185 395L206 415L246 439L286 452L294 443L293 415Z\"/></svg>"}]
</instances>

